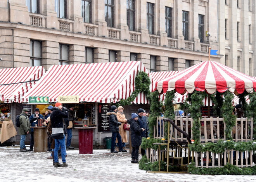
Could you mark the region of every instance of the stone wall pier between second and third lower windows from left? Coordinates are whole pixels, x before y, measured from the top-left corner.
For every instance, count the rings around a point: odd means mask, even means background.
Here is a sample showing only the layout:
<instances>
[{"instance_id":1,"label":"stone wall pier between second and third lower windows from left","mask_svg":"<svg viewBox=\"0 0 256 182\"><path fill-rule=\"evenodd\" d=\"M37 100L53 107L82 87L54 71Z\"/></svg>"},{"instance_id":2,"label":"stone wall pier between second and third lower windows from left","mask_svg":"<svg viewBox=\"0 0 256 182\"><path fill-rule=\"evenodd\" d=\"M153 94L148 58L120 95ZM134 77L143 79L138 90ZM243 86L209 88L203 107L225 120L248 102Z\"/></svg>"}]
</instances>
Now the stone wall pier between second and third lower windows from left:
<instances>
[{"instance_id":1,"label":"stone wall pier between second and third lower windows from left","mask_svg":"<svg viewBox=\"0 0 256 182\"><path fill-rule=\"evenodd\" d=\"M69 64L85 63L85 46L69 46Z\"/></svg>"}]
</instances>

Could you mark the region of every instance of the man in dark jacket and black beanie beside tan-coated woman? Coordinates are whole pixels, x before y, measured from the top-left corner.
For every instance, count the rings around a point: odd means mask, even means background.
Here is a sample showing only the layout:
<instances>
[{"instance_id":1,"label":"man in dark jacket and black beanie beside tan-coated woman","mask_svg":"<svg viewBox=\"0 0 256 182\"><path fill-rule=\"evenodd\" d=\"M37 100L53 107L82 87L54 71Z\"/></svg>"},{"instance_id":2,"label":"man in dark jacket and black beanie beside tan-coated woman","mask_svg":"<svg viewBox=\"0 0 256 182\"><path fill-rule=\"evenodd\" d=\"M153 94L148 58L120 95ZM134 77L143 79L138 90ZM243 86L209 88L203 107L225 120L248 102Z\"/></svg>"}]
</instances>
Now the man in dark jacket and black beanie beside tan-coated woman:
<instances>
[{"instance_id":1,"label":"man in dark jacket and black beanie beside tan-coated woman","mask_svg":"<svg viewBox=\"0 0 256 182\"><path fill-rule=\"evenodd\" d=\"M109 129L112 132L112 140L111 140L111 153L118 153L118 151L115 150L115 143L116 138L118 139L118 145L119 145L119 152L127 152L127 150L123 150L123 143L121 135L119 134L119 125L121 125L121 122L118 122L118 119L116 117L116 106L112 105L110 112L107 112L107 115L109 116Z\"/></svg>"}]
</instances>

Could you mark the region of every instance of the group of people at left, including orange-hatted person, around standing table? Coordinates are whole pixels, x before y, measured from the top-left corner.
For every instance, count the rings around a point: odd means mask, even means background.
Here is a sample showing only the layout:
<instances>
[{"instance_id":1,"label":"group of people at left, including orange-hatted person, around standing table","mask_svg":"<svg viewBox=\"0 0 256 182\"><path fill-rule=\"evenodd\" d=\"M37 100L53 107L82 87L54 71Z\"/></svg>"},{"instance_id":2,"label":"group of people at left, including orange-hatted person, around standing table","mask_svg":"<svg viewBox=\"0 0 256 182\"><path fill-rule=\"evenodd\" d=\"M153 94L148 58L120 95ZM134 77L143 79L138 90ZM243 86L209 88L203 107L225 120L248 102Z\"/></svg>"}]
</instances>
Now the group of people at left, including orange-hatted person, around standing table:
<instances>
[{"instance_id":1,"label":"group of people at left, including orange-hatted person, around standing table","mask_svg":"<svg viewBox=\"0 0 256 182\"><path fill-rule=\"evenodd\" d=\"M67 167L68 164L66 163L66 148L67 149L74 149L71 144L72 138L72 127L69 127L69 123L74 122L73 119L73 105L69 105L69 109L63 107L60 102L57 102L55 106L52 105L48 106L48 112L43 117L40 114L38 108L35 109L35 113L32 114L28 118L28 109L23 109L22 113L19 116L19 134L21 135L20 141L20 151L33 151L34 147L34 128L30 128L31 126L36 126L38 124L38 119L44 119L45 124L47 125L47 130L50 138L50 142L48 140L48 145L50 145L50 149L52 154L48 158L53 158L54 167ZM74 126L74 125L73 125ZM27 150L26 146L24 145L24 141L26 139L26 135L31 133L31 141L30 141L30 149ZM67 134L67 144L65 144ZM61 149L61 158L62 164L59 163L59 149Z\"/></svg>"}]
</instances>

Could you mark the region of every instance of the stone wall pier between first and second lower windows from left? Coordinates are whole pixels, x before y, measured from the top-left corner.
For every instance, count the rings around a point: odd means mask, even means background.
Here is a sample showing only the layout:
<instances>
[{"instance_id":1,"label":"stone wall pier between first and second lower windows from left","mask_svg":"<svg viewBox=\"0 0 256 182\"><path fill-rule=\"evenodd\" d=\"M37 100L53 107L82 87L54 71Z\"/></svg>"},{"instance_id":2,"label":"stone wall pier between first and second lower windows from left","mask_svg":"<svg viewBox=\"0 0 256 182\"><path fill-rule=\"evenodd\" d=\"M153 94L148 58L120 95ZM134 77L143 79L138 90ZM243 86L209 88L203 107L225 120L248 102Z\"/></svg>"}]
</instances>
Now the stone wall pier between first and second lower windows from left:
<instances>
[{"instance_id":1,"label":"stone wall pier between first and second lower windows from left","mask_svg":"<svg viewBox=\"0 0 256 182\"><path fill-rule=\"evenodd\" d=\"M48 70L52 65L59 65L59 43L42 42L42 66Z\"/></svg>"}]
</instances>

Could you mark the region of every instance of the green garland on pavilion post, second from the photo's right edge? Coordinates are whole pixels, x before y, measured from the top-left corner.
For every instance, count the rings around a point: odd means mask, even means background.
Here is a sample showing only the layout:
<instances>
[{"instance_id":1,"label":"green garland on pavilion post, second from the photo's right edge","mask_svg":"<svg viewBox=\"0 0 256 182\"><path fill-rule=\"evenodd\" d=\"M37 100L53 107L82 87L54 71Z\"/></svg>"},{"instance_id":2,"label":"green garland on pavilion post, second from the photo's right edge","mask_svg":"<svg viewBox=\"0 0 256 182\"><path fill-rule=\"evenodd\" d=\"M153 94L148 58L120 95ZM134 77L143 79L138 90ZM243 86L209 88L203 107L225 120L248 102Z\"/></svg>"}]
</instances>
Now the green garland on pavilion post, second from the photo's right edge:
<instances>
[{"instance_id":1,"label":"green garland on pavilion post, second from the photo's right edge","mask_svg":"<svg viewBox=\"0 0 256 182\"><path fill-rule=\"evenodd\" d=\"M221 113L223 113L223 121L226 123L226 139L233 140L231 131L236 121L236 116L232 115L234 109L234 107L232 106L232 99L234 99L234 95L229 91L224 92L223 95L225 97L225 100L223 106L221 107Z\"/></svg>"}]
</instances>

